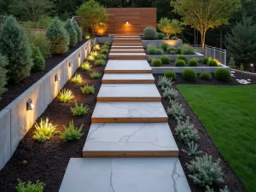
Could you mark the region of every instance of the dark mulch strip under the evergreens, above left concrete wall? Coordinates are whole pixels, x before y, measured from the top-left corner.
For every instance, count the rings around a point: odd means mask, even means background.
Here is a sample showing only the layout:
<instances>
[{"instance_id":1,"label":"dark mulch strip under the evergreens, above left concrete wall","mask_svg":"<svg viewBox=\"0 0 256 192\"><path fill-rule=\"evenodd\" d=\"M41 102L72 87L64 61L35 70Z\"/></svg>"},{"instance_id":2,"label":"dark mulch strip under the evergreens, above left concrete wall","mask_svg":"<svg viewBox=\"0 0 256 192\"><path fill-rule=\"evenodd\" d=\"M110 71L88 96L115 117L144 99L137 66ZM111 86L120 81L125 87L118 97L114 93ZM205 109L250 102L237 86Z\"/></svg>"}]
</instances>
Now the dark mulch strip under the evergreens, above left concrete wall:
<instances>
[{"instance_id":1,"label":"dark mulch strip under the evergreens, above left concrete wall","mask_svg":"<svg viewBox=\"0 0 256 192\"><path fill-rule=\"evenodd\" d=\"M27 90L32 84L36 83L38 79L41 79L46 73L48 73L52 68L57 66L61 61L65 60L68 55L71 55L73 51L78 49L82 44L84 44L88 39L83 39L82 42L76 44L76 46L67 50L66 53L61 55L53 55L52 57L45 60L45 69L42 72L32 73L26 79L20 81L19 84L8 84L7 91L3 93L0 100L0 110L13 102L18 96L20 96L25 90Z\"/></svg>"}]
</instances>

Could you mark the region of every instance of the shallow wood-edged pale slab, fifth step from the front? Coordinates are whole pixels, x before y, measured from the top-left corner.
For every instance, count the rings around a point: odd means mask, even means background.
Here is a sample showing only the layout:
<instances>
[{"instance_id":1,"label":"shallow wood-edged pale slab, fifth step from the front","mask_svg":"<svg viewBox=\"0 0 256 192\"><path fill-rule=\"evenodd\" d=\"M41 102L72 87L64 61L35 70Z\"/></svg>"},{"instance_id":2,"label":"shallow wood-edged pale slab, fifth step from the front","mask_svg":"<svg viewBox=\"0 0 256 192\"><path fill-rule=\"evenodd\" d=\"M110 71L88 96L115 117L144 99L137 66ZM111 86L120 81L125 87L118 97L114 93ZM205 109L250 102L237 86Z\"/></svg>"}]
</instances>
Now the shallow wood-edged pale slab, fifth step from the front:
<instances>
[{"instance_id":1,"label":"shallow wood-edged pale slab, fifth step from the front","mask_svg":"<svg viewBox=\"0 0 256 192\"><path fill-rule=\"evenodd\" d=\"M149 73L105 73L102 84L154 84L154 76Z\"/></svg>"}]
</instances>

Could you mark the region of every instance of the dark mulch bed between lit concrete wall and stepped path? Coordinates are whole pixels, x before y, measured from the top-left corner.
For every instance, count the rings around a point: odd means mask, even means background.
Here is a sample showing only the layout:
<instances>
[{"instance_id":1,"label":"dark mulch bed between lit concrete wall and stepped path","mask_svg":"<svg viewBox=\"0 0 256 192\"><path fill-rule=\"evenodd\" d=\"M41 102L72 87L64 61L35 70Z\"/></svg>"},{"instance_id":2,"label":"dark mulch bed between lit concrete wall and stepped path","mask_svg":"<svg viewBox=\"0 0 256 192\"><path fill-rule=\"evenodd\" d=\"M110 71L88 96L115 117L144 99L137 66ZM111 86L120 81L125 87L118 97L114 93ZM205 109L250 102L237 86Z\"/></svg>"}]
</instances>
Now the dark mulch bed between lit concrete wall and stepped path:
<instances>
[{"instance_id":1,"label":"dark mulch bed between lit concrete wall and stepped path","mask_svg":"<svg viewBox=\"0 0 256 192\"><path fill-rule=\"evenodd\" d=\"M92 67L91 71L104 72L104 67ZM73 84L68 81L63 89L72 90L75 95L74 101L69 103L59 102L57 98L49 104L49 107L38 118L48 118L55 125L58 125L57 130L63 131L63 125L68 125L68 122L74 120L74 125L84 125L84 136L76 142L62 142L59 135L51 138L45 143L37 143L32 140L32 134L35 130L34 126L27 132L26 136L20 141L18 148L11 160L0 171L0 191L15 192L17 179L21 181L32 182L40 180L46 184L45 192L56 192L61 186L61 181L67 168L70 158L82 157L82 149L85 139L90 129L90 118L96 106L96 95L102 84L101 79L90 79L90 72L85 72L78 69L78 74L83 77L83 84L93 84L96 87L96 93L93 95L83 95L78 84ZM73 117L70 108L74 106L74 102L84 103L90 108L90 111L81 117ZM23 164L23 160L27 160L27 164Z\"/></svg>"}]
</instances>

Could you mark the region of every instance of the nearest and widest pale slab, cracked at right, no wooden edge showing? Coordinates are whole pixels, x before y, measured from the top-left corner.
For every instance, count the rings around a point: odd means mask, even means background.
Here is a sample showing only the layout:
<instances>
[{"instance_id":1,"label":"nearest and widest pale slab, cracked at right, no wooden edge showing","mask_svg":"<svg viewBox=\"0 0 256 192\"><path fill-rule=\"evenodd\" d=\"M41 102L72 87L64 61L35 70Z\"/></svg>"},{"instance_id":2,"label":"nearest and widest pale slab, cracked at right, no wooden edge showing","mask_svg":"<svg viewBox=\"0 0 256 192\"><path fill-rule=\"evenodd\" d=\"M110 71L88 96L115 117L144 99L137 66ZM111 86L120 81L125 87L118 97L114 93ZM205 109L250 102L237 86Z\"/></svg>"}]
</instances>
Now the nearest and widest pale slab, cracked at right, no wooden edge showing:
<instances>
[{"instance_id":1,"label":"nearest and widest pale slab, cracked at right, no wooden edge showing","mask_svg":"<svg viewBox=\"0 0 256 192\"><path fill-rule=\"evenodd\" d=\"M191 192L177 157L72 158L59 192Z\"/></svg>"}]
</instances>

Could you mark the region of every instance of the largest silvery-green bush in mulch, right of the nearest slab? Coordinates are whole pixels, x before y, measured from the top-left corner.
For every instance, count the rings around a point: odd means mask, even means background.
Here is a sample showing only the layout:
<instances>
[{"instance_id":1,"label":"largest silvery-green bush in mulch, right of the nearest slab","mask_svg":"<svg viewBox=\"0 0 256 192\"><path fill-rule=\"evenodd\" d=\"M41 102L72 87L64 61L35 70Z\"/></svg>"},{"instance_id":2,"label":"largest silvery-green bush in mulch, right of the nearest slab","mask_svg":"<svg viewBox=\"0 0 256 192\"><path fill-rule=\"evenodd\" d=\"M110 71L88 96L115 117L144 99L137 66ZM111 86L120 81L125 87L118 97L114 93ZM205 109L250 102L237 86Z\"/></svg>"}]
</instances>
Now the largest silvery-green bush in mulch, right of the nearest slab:
<instances>
[{"instance_id":1,"label":"largest silvery-green bush in mulch, right of the nearest slab","mask_svg":"<svg viewBox=\"0 0 256 192\"><path fill-rule=\"evenodd\" d=\"M191 160L187 164L189 171L192 172L189 177L192 178L194 183L201 186L224 183L224 173L219 163L219 159L217 162L213 162L212 156L208 154L202 157L195 157L195 160Z\"/></svg>"}]
</instances>

